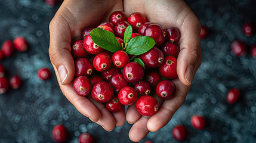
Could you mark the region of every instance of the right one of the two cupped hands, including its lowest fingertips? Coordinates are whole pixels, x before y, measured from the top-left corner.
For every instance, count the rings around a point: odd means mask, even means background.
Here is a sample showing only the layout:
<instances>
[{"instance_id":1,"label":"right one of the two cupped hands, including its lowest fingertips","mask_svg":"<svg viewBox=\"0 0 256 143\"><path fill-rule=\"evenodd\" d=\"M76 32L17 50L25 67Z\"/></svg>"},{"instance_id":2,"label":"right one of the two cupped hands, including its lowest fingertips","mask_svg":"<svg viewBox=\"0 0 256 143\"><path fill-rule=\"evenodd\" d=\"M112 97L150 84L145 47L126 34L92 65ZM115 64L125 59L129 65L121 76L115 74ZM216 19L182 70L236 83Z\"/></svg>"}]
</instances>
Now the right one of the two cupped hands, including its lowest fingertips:
<instances>
[{"instance_id":1,"label":"right one of the two cupped hands, including its lowest fingertips","mask_svg":"<svg viewBox=\"0 0 256 143\"><path fill-rule=\"evenodd\" d=\"M201 65L201 24L189 6L181 0L125 0L124 10L127 15L140 12L146 15L148 21L158 23L165 29L177 27L181 33L178 43L180 45L177 60L178 78L172 80L176 85L174 97L163 101L156 95L162 107L151 117L141 116L135 105L128 107L126 119L129 123L134 123L129 131L129 138L138 142L149 131L156 132L163 128L186 99L193 77Z\"/></svg>"}]
</instances>

